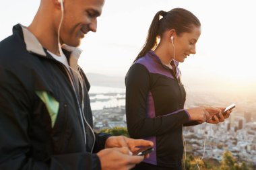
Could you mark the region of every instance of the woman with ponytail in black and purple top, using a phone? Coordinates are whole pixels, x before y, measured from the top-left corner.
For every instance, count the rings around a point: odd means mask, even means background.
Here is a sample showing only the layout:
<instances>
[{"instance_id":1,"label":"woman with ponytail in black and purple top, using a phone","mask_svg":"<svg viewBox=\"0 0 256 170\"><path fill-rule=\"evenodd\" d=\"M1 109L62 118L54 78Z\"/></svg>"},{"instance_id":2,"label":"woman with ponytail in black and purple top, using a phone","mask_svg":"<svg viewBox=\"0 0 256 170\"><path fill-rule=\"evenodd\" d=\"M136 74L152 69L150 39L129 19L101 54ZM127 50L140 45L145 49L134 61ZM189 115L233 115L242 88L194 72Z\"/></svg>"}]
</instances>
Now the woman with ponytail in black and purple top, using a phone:
<instances>
[{"instance_id":1,"label":"woman with ponytail in black and purple top, using a phone","mask_svg":"<svg viewBox=\"0 0 256 170\"><path fill-rule=\"evenodd\" d=\"M183 169L183 126L224 121L224 108L184 109L186 93L177 66L195 54L200 34L199 19L186 9L158 11L154 16L146 43L126 77L129 134L154 142L154 152L136 169Z\"/></svg>"}]
</instances>

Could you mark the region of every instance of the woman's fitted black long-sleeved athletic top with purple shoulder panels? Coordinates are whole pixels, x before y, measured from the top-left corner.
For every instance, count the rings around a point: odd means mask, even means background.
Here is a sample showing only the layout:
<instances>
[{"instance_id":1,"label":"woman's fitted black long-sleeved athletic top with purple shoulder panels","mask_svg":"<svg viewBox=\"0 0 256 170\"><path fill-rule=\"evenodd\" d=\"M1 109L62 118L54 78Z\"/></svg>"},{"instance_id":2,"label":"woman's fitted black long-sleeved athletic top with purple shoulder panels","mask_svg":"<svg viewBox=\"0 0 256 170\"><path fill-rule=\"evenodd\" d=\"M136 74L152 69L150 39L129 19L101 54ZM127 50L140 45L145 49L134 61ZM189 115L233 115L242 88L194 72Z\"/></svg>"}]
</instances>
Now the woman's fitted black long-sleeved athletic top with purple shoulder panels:
<instances>
[{"instance_id":1,"label":"woman's fitted black long-sleeved athletic top with purple shoulder panels","mask_svg":"<svg viewBox=\"0 0 256 170\"><path fill-rule=\"evenodd\" d=\"M183 109L186 92L181 71L174 69L177 74L151 50L136 60L125 79L129 135L154 142L154 152L144 162L172 168L179 167L183 159L183 124L198 124L189 121Z\"/></svg>"}]
</instances>

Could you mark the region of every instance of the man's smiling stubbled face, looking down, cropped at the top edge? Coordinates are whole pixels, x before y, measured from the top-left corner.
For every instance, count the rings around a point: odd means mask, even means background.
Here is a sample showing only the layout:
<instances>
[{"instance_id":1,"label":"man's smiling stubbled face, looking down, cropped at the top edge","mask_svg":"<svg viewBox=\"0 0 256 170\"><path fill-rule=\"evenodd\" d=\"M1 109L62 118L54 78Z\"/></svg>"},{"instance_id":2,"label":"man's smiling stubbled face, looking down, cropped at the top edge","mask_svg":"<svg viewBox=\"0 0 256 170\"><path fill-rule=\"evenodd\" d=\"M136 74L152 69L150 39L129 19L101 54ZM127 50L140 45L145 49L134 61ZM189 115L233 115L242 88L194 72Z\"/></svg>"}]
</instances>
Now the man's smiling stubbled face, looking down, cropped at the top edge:
<instances>
[{"instance_id":1,"label":"man's smiling stubbled face, looking down, cropped at the top edge","mask_svg":"<svg viewBox=\"0 0 256 170\"><path fill-rule=\"evenodd\" d=\"M97 17L102 12L104 0L66 0L61 26L61 44L79 46L88 32L96 32Z\"/></svg>"}]
</instances>

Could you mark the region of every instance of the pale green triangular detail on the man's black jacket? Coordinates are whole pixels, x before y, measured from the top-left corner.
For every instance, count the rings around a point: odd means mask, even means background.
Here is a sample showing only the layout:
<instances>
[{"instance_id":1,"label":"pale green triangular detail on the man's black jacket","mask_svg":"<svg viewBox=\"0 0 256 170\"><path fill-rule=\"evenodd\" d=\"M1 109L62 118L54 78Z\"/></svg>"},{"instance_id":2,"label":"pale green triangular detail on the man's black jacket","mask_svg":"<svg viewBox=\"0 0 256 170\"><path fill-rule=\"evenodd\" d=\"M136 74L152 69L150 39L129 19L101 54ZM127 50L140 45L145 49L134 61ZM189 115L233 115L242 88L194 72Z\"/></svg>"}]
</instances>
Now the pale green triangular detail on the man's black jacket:
<instances>
[{"instance_id":1,"label":"pale green triangular detail on the man's black jacket","mask_svg":"<svg viewBox=\"0 0 256 170\"><path fill-rule=\"evenodd\" d=\"M50 114L53 128L59 111L59 102L46 91L36 91L36 95L38 95L38 97L44 102L46 109Z\"/></svg>"}]
</instances>

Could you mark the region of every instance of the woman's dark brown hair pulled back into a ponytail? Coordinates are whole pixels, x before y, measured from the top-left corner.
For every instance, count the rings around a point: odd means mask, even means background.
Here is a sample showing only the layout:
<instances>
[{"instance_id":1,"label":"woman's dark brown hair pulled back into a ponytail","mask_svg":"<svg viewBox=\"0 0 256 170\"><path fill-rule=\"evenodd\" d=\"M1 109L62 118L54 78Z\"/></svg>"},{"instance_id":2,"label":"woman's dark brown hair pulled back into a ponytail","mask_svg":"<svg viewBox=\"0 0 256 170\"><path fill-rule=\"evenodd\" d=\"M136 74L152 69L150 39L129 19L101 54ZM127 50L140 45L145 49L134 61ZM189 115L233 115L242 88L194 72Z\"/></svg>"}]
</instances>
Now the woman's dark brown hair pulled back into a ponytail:
<instances>
[{"instance_id":1,"label":"woman's dark brown hair pulled back into a ponytail","mask_svg":"<svg viewBox=\"0 0 256 170\"><path fill-rule=\"evenodd\" d=\"M160 15L162 16L161 19L159 19ZM162 34L166 30L174 29L179 36L183 32L191 32L195 26L201 26L199 19L186 9L174 8L168 12L158 11L148 30L147 40L134 62L141 56L145 56L152 48L155 48L157 45L157 36L162 37Z\"/></svg>"}]
</instances>

